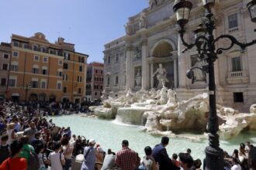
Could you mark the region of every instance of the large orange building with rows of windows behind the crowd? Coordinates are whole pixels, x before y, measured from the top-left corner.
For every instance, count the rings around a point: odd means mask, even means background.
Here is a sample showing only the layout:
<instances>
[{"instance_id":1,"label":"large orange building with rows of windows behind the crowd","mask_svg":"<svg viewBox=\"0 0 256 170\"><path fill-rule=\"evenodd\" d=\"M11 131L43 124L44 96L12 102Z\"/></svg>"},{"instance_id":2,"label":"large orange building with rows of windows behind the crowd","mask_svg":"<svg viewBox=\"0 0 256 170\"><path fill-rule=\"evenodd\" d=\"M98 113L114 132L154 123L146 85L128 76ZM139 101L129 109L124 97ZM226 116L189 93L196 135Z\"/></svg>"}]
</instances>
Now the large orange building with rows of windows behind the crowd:
<instances>
[{"instance_id":1,"label":"large orange building with rows of windows behind the crowd","mask_svg":"<svg viewBox=\"0 0 256 170\"><path fill-rule=\"evenodd\" d=\"M12 34L7 98L80 103L87 58L63 38L50 43L40 32L29 38Z\"/></svg>"}]
</instances>

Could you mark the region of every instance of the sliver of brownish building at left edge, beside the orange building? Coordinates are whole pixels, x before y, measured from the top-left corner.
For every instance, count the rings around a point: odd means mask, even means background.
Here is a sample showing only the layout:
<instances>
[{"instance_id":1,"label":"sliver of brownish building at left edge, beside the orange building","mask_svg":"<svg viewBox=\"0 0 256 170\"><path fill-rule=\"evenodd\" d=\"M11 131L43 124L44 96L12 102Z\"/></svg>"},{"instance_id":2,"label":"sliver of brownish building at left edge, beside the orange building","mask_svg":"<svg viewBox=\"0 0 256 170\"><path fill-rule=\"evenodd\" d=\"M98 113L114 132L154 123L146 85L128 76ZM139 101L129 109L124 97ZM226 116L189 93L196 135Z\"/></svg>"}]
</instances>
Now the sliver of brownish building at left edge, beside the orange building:
<instances>
[{"instance_id":1,"label":"sliver of brownish building at left edge, beside the orange building","mask_svg":"<svg viewBox=\"0 0 256 170\"><path fill-rule=\"evenodd\" d=\"M0 45L0 99L4 99L7 93L11 52L11 45L2 42Z\"/></svg>"}]
</instances>

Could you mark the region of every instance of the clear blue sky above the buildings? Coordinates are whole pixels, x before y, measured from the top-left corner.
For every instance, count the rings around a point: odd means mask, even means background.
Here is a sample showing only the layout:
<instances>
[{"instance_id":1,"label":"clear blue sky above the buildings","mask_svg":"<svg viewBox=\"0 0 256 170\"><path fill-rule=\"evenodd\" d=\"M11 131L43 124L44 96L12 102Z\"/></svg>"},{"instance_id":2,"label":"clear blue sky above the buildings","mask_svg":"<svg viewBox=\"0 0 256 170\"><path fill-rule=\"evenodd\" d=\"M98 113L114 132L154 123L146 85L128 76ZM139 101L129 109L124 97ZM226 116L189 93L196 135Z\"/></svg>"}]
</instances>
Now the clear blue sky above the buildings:
<instances>
[{"instance_id":1,"label":"clear blue sky above the buildings","mask_svg":"<svg viewBox=\"0 0 256 170\"><path fill-rule=\"evenodd\" d=\"M0 0L0 42L42 32L52 43L74 43L88 63L103 62L104 44L124 36L128 18L147 7L147 0Z\"/></svg>"}]
</instances>

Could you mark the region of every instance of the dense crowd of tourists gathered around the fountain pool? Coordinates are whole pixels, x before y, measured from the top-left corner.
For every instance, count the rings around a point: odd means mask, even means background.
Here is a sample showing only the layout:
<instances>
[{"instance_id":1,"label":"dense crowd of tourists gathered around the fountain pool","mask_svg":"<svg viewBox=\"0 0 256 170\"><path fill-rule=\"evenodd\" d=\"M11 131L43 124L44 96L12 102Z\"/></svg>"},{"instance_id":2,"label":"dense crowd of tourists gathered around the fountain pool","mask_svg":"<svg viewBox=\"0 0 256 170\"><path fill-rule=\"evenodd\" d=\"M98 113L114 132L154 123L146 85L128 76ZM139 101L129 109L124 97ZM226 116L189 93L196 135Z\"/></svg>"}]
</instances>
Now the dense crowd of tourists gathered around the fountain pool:
<instances>
[{"instance_id":1,"label":"dense crowd of tourists gathered around the fountain pool","mask_svg":"<svg viewBox=\"0 0 256 170\"><path fill-rule=\"evenodd\" d=\"M168 137L153 148L144 148L144 157L129 148L129 141L120 141L120 150L104 151L95 139L72 134L71 128L59 128L47 121L46 111L31 107L22 110L19 104L0 101L0 170L51 169L68 170L75 156L83 155L81 170L194 170L205 169L206 161L192 158L192 150L168 155ZM256 148L241 143L232 155L224 151L224 167L230 170L256 170Z\"/></svg>"}]
</instances>

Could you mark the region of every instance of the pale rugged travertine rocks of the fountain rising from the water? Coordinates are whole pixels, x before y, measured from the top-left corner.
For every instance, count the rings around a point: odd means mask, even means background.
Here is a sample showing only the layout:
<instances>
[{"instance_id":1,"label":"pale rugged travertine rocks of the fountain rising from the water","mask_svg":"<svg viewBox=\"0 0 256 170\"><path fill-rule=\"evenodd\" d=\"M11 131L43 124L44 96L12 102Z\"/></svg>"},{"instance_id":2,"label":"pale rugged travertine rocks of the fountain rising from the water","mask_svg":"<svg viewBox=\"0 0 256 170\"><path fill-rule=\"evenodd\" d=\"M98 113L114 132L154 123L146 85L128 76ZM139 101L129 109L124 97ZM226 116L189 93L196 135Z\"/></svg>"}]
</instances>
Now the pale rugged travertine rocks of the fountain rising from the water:
<instances>
[{"instance_id":1,"label":"pale rugged travertine rocks of the fountain rising from the water","mask_svg":"<svg viewBox=\"0 0 256 170\"><path fill-rule=\"evenodd\" d=\"M176 101L175 91L140 90L103 101L101 107L90 107L100 118L114 119L124 124L144 126L152 134L173 134L178 131L205 132L208 121L209 96L199 94L189 100ZM256 130L256 104L251 114L240 114L230 107L217 105L219 134L222 139L234 138L240 131Z\"/></svg>"}]
</instances>

